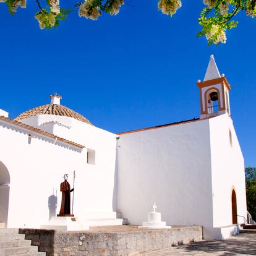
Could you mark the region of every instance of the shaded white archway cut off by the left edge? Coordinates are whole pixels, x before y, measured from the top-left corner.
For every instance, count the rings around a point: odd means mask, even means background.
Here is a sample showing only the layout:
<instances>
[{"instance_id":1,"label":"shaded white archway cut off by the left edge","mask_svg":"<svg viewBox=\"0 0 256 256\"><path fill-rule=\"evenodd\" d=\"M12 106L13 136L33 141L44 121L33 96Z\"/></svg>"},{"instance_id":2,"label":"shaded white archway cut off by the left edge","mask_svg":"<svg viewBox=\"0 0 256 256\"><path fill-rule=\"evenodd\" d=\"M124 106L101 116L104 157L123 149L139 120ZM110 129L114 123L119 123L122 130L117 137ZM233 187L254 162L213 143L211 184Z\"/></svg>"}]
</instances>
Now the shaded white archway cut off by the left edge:
<instances>
[{"instance_id":1,"label":"shaded white archway cut off by the left edge","mask_svg":"<svg viewBox=\"0 0 256 256\"><path fill-rule=\"evenodd\" d=\"M0 161L0 223L7 228L10 192L10 174L6 166Z\"/></svg>"}]
</instances>

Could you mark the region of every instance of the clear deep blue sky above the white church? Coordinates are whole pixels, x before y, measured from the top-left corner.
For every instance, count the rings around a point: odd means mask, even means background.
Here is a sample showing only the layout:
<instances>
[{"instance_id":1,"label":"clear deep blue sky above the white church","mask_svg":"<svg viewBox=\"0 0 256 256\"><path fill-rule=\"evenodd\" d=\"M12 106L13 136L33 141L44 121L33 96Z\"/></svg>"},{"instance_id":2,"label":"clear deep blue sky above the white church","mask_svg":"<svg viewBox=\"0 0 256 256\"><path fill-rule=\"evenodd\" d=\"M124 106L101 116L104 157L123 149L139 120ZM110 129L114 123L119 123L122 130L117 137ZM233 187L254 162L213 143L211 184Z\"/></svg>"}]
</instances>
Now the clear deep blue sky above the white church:
<instances>
[{"instance_id":1,"label":"clear deep blue sky above the white church","mask_svg":"<svg viewBox=\"0 0 256 256\"><path fill-rule=\"evenodd\" d=\"M111 132L198 117L195 83L214 54L232 87L245 165L256 166L256 19L238 15L226 45L209 47L195 36L202 0L183 0L172 19L158 11L156 0L126 2L119 15L97 22L80 19L76 10L54 30L38 28L35 1L14 17L1 3L0 108L15 117L58 92L62 105Z\"/></svg>"}]
</instances>

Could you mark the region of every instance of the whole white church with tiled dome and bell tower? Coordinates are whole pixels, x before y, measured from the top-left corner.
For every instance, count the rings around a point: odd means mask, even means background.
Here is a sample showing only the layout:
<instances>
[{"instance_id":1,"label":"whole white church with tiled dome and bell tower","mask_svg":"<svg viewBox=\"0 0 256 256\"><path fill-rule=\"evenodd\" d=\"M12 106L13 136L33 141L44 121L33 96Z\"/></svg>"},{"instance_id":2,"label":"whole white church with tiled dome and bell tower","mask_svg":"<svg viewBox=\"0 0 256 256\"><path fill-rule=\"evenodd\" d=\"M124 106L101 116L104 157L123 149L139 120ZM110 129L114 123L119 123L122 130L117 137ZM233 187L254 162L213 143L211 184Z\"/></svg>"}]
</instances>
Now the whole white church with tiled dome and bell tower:
<instances>
[{"instance_id":1,"label":"whole white church with tiled dome and bell tower","mask_svg":"<svg viewBox=\"0 0 256 256\"><path fill-rule=\"evenodd\" d=\"M156 202L170 226L202 225L207 239L236 234L247 215L244 158L231 87L213 56L197 87L198 119L120 134L93 126L57 94L15 119L0 110L2 226L49 223L61 207L62 177L69 174L72 187L75 171L74 215L82 228L141 225Z\"/></svg>"}]
</instances>

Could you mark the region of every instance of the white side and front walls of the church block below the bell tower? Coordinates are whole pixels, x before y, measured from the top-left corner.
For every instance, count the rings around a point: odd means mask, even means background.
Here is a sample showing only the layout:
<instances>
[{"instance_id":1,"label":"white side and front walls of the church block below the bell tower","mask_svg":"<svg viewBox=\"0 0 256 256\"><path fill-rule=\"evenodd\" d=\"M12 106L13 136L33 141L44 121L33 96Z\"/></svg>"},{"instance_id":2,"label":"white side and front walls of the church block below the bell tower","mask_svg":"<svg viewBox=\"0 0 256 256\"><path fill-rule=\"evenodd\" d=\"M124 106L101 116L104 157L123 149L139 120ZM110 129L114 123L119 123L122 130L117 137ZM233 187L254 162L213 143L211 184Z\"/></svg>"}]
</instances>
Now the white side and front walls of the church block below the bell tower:
<instances>
[{"instance_id":1,"label":"white side and front walls of the church block below the bell tower","mask_svg":"<svg viewBox=\"0 0 256 256\"><path fill-rule=\"evenodd\" d=\"M232 186L237 214L246 216L244 160L228 114L120 135L117 148L117 206L130 224L155 200L167 224L200 224L205 238L222 239L229 231L221 227L233 229Z\"/></svg>"}]
</instances>

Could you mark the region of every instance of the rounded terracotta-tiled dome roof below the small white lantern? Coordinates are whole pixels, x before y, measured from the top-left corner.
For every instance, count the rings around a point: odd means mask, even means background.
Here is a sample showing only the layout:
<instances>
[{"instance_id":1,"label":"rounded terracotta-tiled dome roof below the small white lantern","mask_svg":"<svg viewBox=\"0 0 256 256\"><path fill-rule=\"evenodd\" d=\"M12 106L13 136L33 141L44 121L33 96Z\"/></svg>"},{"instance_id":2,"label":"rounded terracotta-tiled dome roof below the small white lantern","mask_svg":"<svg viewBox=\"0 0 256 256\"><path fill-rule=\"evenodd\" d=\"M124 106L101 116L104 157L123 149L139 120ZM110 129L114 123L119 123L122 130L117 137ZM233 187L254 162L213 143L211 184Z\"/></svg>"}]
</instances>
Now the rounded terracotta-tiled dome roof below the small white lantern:
<instances>
[{"instance_id":1,"label":"rounded terracotta-tiled dome roof below the small white lantern","mask_svg":"<svg viewBox=\"0 0 256 256\"><path fill-rule=\"evenodd\" d=\"M73 117L81 122L86 122L87 124L92 123L86 119L82 114L75 112L74 110L67 108L66 106L58 104L46 104L43 106L38 106L36 108L29 109L17 116L14 120L21 120L32 116L37 116L38 114L54 114L56 116L67 116Z\"/></svg>"}]
</instances>

